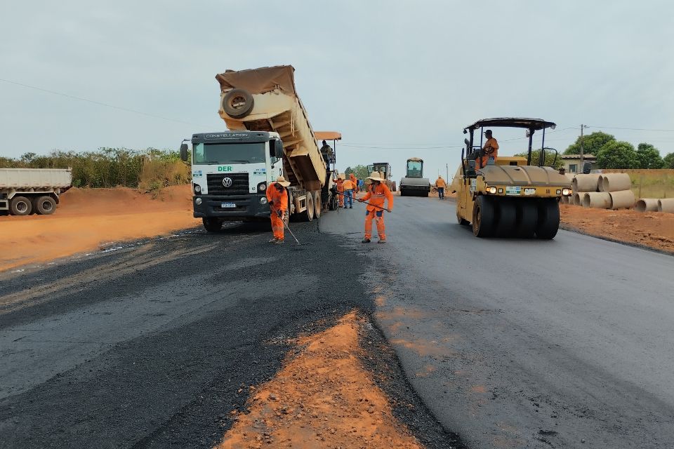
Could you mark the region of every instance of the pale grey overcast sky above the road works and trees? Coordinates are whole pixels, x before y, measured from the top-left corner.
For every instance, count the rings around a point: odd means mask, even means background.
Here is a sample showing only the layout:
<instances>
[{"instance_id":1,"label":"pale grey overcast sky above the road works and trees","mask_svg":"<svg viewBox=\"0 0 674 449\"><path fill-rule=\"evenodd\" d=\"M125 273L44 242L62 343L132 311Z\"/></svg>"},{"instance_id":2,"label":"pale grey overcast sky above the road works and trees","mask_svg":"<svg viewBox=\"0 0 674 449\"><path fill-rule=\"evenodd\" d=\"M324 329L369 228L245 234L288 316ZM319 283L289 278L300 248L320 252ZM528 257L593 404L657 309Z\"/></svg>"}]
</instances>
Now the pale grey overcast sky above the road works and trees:
<instances>
[{"instance_id":1,"label":"pale grey overcast sky above the road works and trees","mask_svg":"<svg viewBox=\"0 0 674 449\"><path fill-rule=\"evenodd\" d=\"M0 156L177 149L224 128L216 74L286 64L313 128L341 131L341 170L399 178L417 156L452 175L463 127L490 116L555 121L560 151L581 123L674 130L673 17L668 0L4 1ZM674 152L674 132L602 129Z\"/></svg>"}]
</instances>

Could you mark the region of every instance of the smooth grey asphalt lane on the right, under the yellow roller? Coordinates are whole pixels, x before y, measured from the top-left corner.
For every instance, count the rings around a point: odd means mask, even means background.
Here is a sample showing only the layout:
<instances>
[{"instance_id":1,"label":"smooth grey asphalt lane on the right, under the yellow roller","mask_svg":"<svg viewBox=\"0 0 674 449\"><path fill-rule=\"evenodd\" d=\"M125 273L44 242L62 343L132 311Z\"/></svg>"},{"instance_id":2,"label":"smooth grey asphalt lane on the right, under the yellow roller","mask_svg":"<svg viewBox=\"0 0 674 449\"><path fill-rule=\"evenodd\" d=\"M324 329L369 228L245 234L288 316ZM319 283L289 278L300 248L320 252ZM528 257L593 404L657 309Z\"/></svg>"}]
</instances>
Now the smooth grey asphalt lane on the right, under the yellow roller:
<instances>
[{"instance_id":1,"label":"smooth grey asphalt lane on the right, under the yellow roller","mask_svg":"<svg viewBox=\"0 0 674 449\"><path fill-rule=\"evenodd\" d=\"M388 243L362 244L354 207L321 230L365 248L379 325L469 447L673 446L674 257L565 231L477 239L453 200L399 196Z\"/></svg>"}]
</instances>

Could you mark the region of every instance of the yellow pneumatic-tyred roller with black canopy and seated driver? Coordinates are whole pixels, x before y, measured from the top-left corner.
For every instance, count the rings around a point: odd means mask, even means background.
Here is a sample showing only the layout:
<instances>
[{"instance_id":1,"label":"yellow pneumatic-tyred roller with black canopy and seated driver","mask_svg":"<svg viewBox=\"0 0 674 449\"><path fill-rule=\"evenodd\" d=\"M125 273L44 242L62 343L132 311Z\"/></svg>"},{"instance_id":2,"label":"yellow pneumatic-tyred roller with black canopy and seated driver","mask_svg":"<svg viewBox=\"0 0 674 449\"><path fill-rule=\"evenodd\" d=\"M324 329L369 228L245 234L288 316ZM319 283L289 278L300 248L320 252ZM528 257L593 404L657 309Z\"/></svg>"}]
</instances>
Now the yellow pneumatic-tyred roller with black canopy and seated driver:
<instances>
[{"instance_id":1,"label":"yellow pneumatic-tyred roller with black canopy and seated driver","mask_svg":"<svg viewBox=\"0 0 674 449\"><path fill-rule=\"evenodd\" d=\"M527 159L496 157L482 166L484 128L524 128L529 138ZM560 227L560 199L571 196L571 182L560 171L544 166L546 153L557 150L545 146L546 129L555 123L542 119L482 119L463 129L469 137L461 150L456 189L456 220L472 225L477 237L517 237L554 239ZM480 145L475 131L480 130ZM541 131L538 161L531 161L534 133ZM532 165L532 162L536 165ZM555 162L553 162L554 165Z\"/></svg>"}]
</instances>

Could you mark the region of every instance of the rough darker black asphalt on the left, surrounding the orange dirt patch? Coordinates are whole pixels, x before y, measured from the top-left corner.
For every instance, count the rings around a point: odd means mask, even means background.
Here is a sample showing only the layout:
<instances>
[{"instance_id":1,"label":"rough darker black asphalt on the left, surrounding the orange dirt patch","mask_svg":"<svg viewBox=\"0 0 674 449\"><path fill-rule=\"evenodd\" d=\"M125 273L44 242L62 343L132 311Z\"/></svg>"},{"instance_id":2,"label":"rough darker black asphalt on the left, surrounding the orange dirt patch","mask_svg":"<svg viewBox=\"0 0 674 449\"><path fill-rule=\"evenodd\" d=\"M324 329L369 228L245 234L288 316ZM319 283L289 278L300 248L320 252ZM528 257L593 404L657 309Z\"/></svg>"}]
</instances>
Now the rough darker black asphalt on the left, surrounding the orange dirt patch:
<instances>
[{"instance_id":1,"label":"rough darker black asphalt on the left, surrounding the orange dirt patch","mask_svg":"<svg viewBox=\"0 0 674 449\"><path fill-rule=\"evenodd\" d=\"M228 225L0 272L0 448L213 447L289 339L373 309L362 254L291 227L303 246ZM429 448L462 447L392 354L364 363L394 414Z\"/></svg>"}]
</instances>

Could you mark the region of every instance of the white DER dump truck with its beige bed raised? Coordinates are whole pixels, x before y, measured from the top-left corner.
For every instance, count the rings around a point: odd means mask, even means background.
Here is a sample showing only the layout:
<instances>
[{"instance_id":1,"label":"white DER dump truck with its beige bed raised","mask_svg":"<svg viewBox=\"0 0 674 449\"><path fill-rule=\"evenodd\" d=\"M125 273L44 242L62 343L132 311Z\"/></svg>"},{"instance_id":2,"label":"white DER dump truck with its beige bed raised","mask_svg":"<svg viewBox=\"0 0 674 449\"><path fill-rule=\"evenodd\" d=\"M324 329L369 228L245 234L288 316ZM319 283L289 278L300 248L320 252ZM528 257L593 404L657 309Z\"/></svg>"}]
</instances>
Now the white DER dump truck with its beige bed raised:
<instances>
[{"instance_id":1,"label":"white DER dump truck with its beige bed raised","mask_svg":"<svg viewBox=\"0 0 674 449\"><path fill-rule=\"evenodd\" d=\"M220 117L228 131L192 135L194 217L209 232L226 220L268 219L266 189L280 175L291 185L289 217L312 221L336 203L334 154L322 154L297 95L290 65L227 70ZM180 146L189 159L187 140Z\"/></svg>"}]
</instances>

